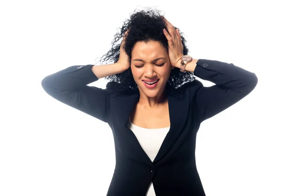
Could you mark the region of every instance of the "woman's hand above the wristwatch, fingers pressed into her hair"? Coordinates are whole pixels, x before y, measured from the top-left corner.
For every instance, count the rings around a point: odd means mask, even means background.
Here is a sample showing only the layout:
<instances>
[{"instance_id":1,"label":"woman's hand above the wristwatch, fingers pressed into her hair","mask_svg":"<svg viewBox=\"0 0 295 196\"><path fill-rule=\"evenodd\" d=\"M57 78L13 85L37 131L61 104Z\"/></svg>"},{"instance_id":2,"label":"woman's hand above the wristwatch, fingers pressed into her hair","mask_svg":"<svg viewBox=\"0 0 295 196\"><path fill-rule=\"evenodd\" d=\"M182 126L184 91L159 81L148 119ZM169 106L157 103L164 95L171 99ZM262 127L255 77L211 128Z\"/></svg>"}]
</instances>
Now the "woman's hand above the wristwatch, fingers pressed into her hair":
<instances>
[{"instance_id":1,"label":"woman's hand above the wristwatch, fingers pressed into her hair","mask_svg":"<svg viewBox=\"0 0 295 196\"><path fill-rule=\"evenodd\" d=\"M162 17L168 28L168 32L165 28L163 29L163 32L168 40L169 59L172 69L174 69L174 67L176 67L177 65L177 62L180 60L180 57L183 56L183 45L181 42L181 37L178 28L175 29L175 27L171 23L169 23L169 21L167 21L167 19L164 16Z\"/></svg>"}]
</instances>

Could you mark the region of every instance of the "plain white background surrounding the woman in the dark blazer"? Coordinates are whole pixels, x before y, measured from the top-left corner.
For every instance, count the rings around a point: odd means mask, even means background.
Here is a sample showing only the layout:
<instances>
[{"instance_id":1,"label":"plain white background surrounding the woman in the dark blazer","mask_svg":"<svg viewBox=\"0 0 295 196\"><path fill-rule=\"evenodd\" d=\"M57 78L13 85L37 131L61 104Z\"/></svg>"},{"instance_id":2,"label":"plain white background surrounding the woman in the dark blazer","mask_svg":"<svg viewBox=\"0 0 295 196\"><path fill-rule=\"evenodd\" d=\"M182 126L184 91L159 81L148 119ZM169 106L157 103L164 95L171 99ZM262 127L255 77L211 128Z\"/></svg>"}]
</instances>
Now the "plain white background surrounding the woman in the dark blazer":
<instances>
[{"instance_id":1,"label":"plain white background surrounding the woman in the dark blazer","mask_svg":"<svg viewBox=\"0 0 295 196\"><path fill-rule=\"evenodd\" d=\"M206 195L295 196L291 0L1 1L0 196L107 194L115 169L111 128L49 96L41 80L95 64L123 21L146 6L184 33L193 58L233 63L258 77L248 96L201 124L196 164Z\"/></svg>"}]
</instances>

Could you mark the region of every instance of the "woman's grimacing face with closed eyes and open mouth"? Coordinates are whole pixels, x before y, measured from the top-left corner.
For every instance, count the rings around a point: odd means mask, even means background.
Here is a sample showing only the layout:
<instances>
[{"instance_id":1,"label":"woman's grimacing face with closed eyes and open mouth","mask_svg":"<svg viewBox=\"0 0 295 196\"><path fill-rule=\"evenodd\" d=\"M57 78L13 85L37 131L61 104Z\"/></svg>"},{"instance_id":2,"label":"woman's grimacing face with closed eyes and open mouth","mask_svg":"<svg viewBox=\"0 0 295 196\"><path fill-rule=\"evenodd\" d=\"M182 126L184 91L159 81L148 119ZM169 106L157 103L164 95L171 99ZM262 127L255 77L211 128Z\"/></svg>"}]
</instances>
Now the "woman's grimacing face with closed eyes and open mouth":
<instances>
[{"instance_id":1,"label":"woman's grimacing face with closed eyes and open mouth","mask_svg":"<svg viewBox=\"0 0 295 196\"><path fill-rule=\"evenodd\" d=\"M172 69L164 46L157 41L137 42L131 56L131 71L139 91L151 98L162 94ZM149 85L143 80L147 82L158 80L158 82Z\"/></svg>"}]
</instances>

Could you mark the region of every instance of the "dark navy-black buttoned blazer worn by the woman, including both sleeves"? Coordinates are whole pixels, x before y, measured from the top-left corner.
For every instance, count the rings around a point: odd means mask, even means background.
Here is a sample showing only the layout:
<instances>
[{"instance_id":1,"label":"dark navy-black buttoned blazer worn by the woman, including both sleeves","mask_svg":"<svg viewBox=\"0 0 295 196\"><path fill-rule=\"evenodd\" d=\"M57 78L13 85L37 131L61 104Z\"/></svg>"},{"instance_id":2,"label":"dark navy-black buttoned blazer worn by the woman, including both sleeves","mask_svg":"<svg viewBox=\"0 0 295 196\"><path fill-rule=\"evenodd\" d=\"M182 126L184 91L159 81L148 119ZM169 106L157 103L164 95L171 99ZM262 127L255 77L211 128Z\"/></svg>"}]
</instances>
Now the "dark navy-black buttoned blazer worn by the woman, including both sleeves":
<instances>
[{"instance_id":1,"label":"dark navy-black buttoned blazer worn by the woman, including both sleeves","mask_svg":"<svg viewBox=\"0 0 295 196\"><path fill-rule=\"evenodd\" d=\"M145 196L151 181L157 196L205 196L195 159L200 123L248 95L258 82L255 73L232 63L199 59L194 75L215 85L204 87L195 80L167 95L171 126L151 162L127 127L139 92L113 95L88 86L98 80L92 66L68 67L46 76L41 84L53 98L110 125L116 167L107 196Z\"/></svg>"}]
</instances>

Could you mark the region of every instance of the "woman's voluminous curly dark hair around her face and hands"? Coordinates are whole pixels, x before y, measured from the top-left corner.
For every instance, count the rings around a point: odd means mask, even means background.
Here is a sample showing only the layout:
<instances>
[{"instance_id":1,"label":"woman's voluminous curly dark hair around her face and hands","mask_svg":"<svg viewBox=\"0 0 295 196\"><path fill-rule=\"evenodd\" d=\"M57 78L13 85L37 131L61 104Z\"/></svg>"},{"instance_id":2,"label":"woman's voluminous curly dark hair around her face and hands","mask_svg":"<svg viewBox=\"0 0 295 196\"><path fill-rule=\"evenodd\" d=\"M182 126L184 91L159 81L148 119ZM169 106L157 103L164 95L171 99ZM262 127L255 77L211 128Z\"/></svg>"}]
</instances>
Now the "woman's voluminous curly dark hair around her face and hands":
<instances>
[{"instance_id":1,"label":"woman's voluminous curly dark hair around her face and hands","mask_svg":"<svg viewBox=\"0 0 295 196\"><path fill-rule=\"evenodd\" d=\"M136 9L135 9L136 11ZM129 63L131 60L131 51L134 45L139 41L159 41L168 52L168 40L163 33L163 28L167 27L165 25L164 19L161 19L160 11L152 10L147 8L147 10L141 10L133 13L130 16L130 20L125 20L124 24L120 28L120 31L115 34L115 39L112 41L112 48L100 59L100 62L106 62L111 60L111 63L118 62L121 39L123 39L124 33L131 27L128 36L125 40L124 50L129 57ZM164 16L164 15L163 15ZM177 27L175 27L177 29ZM167 31L168 32L168 31ZM179 30L180 35L182 34ZM186 47L186 40L181 35L181 42L183 45L183 54L188 53L188 48ZM113 62L112 62L113 61ZM106 79L110 80L107 83L107 91L116 91L117 93L134 93L138 91L138 86L134 81L131 66L122 73L117 73L114 75L106 76ZM166 83L165 90L173 92L173 90L182 86L182 84L189 81L196 80L195 76L191 72L182 73L179 69L175 68L171 70L170 76Z\"/></svg>"}]
</instances>

